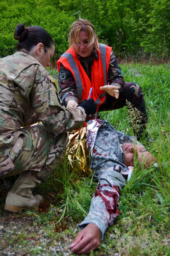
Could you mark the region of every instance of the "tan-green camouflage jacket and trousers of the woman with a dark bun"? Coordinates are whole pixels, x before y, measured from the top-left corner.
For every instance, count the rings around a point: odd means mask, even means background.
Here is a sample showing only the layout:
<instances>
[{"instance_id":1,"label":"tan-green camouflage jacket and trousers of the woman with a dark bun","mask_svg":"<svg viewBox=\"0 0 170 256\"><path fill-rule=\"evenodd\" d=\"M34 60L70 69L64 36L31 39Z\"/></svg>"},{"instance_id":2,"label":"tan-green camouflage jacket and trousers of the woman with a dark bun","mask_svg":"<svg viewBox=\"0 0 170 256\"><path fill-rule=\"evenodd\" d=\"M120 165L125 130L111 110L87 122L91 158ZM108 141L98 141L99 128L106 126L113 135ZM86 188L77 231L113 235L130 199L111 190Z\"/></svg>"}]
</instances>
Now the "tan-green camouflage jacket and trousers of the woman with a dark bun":
<instances>
[{"instance_id":1,"label":"tan-green camouflage jacket and trousers of the woman with a dark bun","mask_svg":"<svg viewBox=\"0 0 170 256\"><path fill-rule=\"evenodd\" d=\"M63 155L67 130L85 118L83 108L63 106L34 57L16 52L0 59L0 178L31 171L46 180ZM42 124L30 126L37 121Z\"/></svg>"}]
</instances>

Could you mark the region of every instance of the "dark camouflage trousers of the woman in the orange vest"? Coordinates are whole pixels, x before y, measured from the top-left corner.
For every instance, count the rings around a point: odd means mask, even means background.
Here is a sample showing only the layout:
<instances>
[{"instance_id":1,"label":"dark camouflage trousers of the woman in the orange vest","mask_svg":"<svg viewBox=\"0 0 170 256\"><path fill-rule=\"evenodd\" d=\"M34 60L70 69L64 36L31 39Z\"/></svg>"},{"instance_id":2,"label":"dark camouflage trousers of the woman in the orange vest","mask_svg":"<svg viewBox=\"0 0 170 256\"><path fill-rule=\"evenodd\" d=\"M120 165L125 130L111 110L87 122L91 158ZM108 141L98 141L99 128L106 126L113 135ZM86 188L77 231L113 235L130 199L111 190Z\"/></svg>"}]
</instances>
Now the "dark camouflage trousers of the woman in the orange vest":
<instances>
[{"instance_id":1,"label":"dark camouflage trousers of the woman in the orange vest","mask_svg":"<svg viewBox=\"0 0 170 256\"><path fill-rule=\"evenodd\" d=\"M122 108L124 106L127 106L129 109L129 112L131 109L127 105L127 102L130 102L130 104L133 106L133 108L136 108L139 111L140 117L138 120L139 127L137 130L134 130L135 135L137 135L138 138L140 138L140 135L142 135L143 130L145 130L146 125L148 123L148 116L146 114L146 106L145 106L145 99L144 94L142 91L142 88L137 85L136 83L126 82L125 89L119 93L118 99L115 97L107 94L106 96L106 102L104 102L99 107L100 111L111 111L115 109ZM98 115L90 115L87 116L86 121L98 118L99 119L99 113ZM133 127L132 127L133 128Z\"/></svg>"}]
</instances>

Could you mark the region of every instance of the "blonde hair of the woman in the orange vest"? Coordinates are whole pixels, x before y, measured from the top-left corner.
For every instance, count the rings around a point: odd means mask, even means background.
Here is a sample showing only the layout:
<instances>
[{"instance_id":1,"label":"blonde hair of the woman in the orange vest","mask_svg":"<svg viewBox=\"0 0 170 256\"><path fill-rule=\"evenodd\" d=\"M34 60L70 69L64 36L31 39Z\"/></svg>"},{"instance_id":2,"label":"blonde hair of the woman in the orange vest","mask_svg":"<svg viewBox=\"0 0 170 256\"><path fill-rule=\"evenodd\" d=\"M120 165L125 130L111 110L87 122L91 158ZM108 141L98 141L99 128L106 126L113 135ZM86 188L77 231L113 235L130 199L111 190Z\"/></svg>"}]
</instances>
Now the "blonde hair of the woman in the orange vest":
<instances>
[{"instance_id":1,"label":"blonde hair of the woman in the orange vest","mask_svg":"<svg viewBox=\"0 0 170 256\"><path fill-rule=\"evenodd\" d=\"M94 26L90 21L86 19L81 19L81 18L73 22L73 24L69 28L69 32L68 32L69 46L73 47L73 43L80 44L80 40L79 40L80 31L87 32L90 40L90 45L94 43L94 50L97 50L99 48L99 40L95 33Z\"/></svg>"}]
</instances>

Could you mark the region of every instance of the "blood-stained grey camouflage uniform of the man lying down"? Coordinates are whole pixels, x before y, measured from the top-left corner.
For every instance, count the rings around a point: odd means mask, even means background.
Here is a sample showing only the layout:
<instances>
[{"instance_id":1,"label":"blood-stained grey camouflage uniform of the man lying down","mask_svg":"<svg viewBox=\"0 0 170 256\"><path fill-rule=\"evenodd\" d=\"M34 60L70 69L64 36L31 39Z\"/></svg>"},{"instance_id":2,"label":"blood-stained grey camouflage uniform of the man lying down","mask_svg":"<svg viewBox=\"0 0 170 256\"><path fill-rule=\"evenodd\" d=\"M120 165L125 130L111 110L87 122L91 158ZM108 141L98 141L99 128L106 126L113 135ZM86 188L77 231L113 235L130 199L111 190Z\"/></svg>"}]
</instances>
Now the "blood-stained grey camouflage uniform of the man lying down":
<instances>
[{"instance_id":1,"label":"blood-stained grey camouflage uniform of the man lying down","mask_svg":"<svg viewBox=\"0 0 170 256\"><path fill-rule=\"evenodd\" d=\"M90 140L94 132L88 127L91 124L95 125L96 122L98 130L94 145L92 145ZM116 131L107 121L91 120L88 122L87 145L91 147L91 169L94 178L98 180L98 185L90 204L89 214L79 227L83 229L89 223L96 224L101 231L101 239L108 225L112 225L119 215L117 209L119 190L126 185L124 177L127 176L125 173L128 168L123 164L121 144L134 143L134 141L141 145L140 142L136 142L136 137Z\"/></svg>"}]
</instances>

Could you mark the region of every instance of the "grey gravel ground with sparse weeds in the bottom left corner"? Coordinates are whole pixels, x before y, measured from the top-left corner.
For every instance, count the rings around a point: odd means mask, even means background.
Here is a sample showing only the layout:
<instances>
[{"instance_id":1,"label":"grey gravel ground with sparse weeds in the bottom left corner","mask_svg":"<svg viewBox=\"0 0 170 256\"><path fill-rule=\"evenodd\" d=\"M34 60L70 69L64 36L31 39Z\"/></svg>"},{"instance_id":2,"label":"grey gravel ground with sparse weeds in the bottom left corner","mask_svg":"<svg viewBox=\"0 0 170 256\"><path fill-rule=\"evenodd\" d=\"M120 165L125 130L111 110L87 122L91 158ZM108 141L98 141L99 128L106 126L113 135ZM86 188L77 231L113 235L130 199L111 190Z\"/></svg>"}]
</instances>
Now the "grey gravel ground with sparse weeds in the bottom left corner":
<instances>
[{"instance_id":1,"label":"grey gravel ground with sparse weeds in the bottom left corner","mask_svg":"<svg viewBox=\"0 0 170 256\"><path fill-rule=\"evenodd\" d=\"M27 214L1 215L0 240L0 255L73 255L68 247L71 236L62 233L62 240L53 241Z\"/></svg>"}]
</instances>

